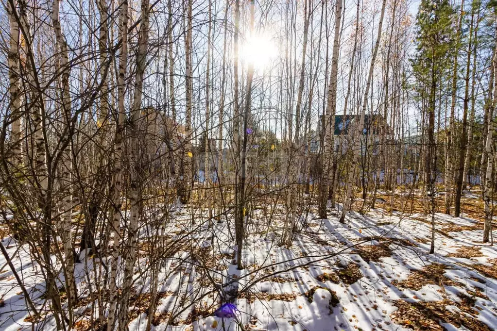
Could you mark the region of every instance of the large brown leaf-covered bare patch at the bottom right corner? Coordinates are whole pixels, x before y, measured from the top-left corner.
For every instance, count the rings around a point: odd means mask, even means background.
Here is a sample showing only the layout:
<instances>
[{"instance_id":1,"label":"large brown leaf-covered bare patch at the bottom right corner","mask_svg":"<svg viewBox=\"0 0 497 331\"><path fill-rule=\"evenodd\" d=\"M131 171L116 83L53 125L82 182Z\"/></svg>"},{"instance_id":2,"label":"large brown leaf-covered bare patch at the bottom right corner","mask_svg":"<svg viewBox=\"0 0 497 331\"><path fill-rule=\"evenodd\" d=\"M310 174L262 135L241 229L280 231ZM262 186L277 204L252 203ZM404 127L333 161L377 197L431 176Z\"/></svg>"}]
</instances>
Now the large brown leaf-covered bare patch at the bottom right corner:
<instances>
[{"instance_id":1,"label":"large brown leaf-covered bare patch at the bottom right corner","mask_svg":"<svg viewBox=\"0 0 497 331\"><path fill-rule=\"evenodd\" d=\"M464 312L472 312L472 316L478 314L475 310L471 309L468 305L471 302L461 300L461 303L456 304L459 309ZM394 301L395 306L399 309L393 312L390 317L392 321L403 327L416 330L434 330L446 331L440 323L450 323L456 327L464 326L472 331L492 331L487 325L478 321L476 318L468 316L467 314L455 314L445 307L454 305L454 302L449 300L443 301L419 301L419 302L406 302L404 300Z\"/></svg>"}]
</instances>

